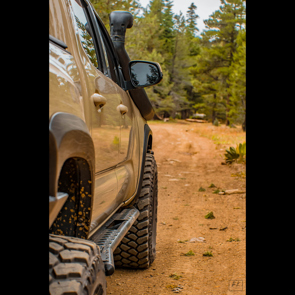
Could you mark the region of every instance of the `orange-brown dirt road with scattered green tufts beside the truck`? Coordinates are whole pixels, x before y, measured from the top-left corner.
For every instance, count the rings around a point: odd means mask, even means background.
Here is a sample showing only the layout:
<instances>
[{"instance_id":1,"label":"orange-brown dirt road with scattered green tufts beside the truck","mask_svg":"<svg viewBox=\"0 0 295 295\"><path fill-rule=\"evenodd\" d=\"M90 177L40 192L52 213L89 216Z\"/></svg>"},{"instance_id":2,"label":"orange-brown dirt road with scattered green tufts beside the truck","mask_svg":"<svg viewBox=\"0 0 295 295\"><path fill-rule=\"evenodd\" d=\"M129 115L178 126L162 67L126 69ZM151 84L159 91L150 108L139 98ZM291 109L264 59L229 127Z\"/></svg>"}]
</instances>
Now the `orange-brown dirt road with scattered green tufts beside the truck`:
<instances>
[{"instance_id":1,"label":"orange-brown dirt road with scattered green tufts beside the truck","mask_svg":"<svg viewBox=\"0 0 295 295\"><path fill-rule=\"evenodd\" d=\"M108 294L174 294L178 285L181 295L246 294L245 165L221 165L220 157L245 132L182 120L149 125L158 164L157 256L145 270L116 268ZM239 193L216 193L233 189ZM206 219L208 212L215 218Z\"/></svg>"}]
</instances>

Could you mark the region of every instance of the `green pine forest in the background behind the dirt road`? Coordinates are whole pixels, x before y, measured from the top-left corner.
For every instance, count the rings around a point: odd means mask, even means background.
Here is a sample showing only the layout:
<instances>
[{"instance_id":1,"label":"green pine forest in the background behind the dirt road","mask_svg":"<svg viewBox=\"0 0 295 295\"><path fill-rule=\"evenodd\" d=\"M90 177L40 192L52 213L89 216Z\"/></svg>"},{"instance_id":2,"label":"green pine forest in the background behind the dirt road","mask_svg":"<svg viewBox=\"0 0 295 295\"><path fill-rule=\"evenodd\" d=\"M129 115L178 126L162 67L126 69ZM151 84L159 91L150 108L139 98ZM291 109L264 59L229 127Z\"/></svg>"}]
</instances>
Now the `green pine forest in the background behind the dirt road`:
<instances>
[{"instance_id":1,"label":"green pine forest in the background behind the dirt road","mask_svg":"<svg viewBox=\"0 0 295 295\"><path fill-rule=\"evenodd\" d=\"M160 63L163 80L145 88L154 119L187 119L205 114L209 122L246 130L246 1L220 0L219 10L199 32L198 7L173 14L173 1L92 0L109 32L109 13L126 10L134 23L126 32L131 60Z\"/></svg>"}]
</instances>

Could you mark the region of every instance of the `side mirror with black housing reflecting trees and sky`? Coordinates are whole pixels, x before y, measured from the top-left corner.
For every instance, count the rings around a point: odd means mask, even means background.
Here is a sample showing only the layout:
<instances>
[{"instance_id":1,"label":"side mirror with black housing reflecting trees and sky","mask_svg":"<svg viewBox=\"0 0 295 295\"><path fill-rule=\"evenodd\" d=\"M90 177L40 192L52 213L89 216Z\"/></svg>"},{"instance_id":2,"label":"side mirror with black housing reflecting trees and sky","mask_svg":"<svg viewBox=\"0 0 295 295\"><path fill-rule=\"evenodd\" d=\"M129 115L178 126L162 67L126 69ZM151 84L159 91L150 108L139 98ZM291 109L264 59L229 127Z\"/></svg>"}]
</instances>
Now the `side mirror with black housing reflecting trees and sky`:
<instances>
[{"instance_id":1,"label":"side mirror with black housing reflecting trees and sky","mask_svg":"<svg viewBox=\"0 0 295 295\"><path fill-rule=\"evenodd\" d=\"M163 79L161 66L153 61L131 60L129 74L132 86L135 88L152 86Z\"/></svg>"}]
</instances>

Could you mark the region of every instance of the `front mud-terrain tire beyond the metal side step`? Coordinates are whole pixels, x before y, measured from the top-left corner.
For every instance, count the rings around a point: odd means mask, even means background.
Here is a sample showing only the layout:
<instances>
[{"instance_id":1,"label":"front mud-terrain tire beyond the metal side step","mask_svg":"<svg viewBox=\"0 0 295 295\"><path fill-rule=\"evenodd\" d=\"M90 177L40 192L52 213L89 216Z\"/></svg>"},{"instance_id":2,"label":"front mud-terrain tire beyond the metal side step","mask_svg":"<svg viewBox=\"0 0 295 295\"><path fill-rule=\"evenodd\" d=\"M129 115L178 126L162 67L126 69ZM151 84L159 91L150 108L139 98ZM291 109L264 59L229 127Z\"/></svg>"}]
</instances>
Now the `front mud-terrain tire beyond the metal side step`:
<instances>
[{"instance_id":1,"label":"front mud-terrain tire beyond the metal side step","mask_svg":"<svg viewBox=\"0 0 295 295\"><path fill-rule=\"evenodd\" d=\"M116 266L148 268L156 257L158 170L155 158L147 154L140 196L131 208L140 215L114 251Z\"/></svg>"}]
</instances>

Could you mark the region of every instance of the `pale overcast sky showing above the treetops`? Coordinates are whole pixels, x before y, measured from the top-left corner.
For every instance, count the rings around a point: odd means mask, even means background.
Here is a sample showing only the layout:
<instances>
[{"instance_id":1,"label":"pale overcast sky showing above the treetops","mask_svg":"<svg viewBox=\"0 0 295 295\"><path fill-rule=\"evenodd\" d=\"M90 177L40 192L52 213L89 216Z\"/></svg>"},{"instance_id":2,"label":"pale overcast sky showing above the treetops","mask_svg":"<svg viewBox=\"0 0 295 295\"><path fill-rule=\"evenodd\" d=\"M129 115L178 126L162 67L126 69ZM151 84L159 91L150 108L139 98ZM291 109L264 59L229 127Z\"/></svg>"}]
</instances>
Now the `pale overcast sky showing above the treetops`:
<instances>
[{"instance_id":1,"label":"pale overcast sky showing above the treetops","mask_svg":"<svg viewBox=\"0 0 295 295\"><path fill-rule=\"evenodd\" d=\"M150 0L138 0L138 2L140 2L143 7L146 7L150 3ZM179 14L181 11L185 16L191 3L197 6L195 13L199 15L197 19L197 28L200 34L205 29L203 19L209 19L209 15L219 10L221 2L220 0L173 0L172 12L174 14Z\"/></svg>"}]
</instances>

